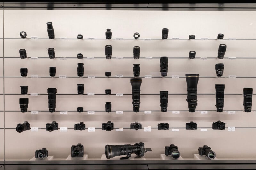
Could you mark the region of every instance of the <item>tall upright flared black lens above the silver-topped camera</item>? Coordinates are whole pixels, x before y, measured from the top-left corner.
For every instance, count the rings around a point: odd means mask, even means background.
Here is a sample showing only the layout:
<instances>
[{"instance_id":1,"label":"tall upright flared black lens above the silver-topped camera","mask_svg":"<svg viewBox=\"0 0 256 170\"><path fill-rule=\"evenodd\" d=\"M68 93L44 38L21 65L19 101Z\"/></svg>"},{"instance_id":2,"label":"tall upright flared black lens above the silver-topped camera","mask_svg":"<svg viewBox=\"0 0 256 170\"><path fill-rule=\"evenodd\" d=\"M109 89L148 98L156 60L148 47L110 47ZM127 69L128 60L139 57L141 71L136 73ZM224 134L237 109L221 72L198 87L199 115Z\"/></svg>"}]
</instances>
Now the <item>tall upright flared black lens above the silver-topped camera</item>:
<instances>
[{"instance_id":1,"label":"tall upright flared black lens above the silver-topped camera","mask_svg":"<svg viewBox=\"0 0 256 170\"><path fill-rule=\"evenodd\" d=\"M133 112L140 111L140 86L142 83L142 79L134 78L130 79L132 85L132 104L133 104Z\"/></svg>"}]
</instances>

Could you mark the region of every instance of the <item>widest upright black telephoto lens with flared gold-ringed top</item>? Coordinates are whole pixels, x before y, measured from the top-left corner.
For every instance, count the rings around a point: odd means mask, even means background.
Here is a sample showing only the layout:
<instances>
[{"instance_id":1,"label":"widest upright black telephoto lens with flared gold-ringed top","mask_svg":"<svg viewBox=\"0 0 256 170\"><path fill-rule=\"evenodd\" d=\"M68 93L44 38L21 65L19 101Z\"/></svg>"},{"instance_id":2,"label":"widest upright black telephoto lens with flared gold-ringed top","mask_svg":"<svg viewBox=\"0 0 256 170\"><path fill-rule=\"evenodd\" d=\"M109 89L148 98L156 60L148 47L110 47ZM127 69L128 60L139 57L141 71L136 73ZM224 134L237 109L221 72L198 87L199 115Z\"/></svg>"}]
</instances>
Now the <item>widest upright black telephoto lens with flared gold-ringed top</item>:
<instances>
[{"instance_id":1,"label":"widest upright black telephoto lens with flared gold-ringed top","mask_svg":"<svg viewBox=\"0 0 256 170\"><path fill-rule=\"evenodd\" d=\"M195 112L197 106L197 83L199 74L186 74L187 82L187 102L189 112Z\"/></svg>"}]
</instances>

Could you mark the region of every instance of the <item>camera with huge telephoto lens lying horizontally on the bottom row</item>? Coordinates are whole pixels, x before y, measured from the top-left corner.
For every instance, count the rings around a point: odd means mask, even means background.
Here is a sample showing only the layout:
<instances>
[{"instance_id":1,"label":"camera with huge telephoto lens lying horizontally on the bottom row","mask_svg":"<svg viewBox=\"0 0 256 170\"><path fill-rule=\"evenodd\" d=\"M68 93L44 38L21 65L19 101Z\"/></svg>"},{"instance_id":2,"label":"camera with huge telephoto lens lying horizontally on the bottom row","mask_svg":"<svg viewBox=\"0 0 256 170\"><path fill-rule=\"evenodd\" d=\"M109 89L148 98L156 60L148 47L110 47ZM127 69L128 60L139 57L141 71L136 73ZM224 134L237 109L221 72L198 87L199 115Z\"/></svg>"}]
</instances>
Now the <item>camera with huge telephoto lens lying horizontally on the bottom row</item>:
<instances>
[{"instance_id":1,"label":"camera with huge telephoto lens lying horizontally on the bottom row","mask_svg":"<svg viewBox=\"0 0 256 170\"><path fill-rule=\"evenodd\" d=\"M121 157L120 159L128 159L131 157L132 153L135 153L138 157L143 157L147 152L144 143L135 143L134 145L106 145L105 155L107 159L113 158L115 156L126 155L126 157Z\"/></svg>"}]
</instances>

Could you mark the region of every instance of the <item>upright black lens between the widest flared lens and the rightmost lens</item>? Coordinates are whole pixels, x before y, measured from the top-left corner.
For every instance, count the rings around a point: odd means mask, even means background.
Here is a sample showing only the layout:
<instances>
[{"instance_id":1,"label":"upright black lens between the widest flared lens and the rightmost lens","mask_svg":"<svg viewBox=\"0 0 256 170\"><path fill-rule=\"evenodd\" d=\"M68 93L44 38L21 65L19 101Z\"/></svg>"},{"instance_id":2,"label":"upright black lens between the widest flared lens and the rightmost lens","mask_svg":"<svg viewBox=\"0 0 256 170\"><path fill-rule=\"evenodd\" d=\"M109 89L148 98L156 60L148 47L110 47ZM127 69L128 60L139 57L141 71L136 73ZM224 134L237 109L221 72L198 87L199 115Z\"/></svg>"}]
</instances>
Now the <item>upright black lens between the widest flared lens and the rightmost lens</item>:
<instances>
[{"instance_id":1,"label":"upright black lens between the widest flared lens and the rightmost lens","mask_svg":"<svg viewBox=\"0 0 256 170\"><path fill-rule=\"evenodd\" d=\"M216 109L217 112L223 112L224 107L224 89L225 84L215 84L215 90L216 90Z\"/></svg>"}]
</instances>

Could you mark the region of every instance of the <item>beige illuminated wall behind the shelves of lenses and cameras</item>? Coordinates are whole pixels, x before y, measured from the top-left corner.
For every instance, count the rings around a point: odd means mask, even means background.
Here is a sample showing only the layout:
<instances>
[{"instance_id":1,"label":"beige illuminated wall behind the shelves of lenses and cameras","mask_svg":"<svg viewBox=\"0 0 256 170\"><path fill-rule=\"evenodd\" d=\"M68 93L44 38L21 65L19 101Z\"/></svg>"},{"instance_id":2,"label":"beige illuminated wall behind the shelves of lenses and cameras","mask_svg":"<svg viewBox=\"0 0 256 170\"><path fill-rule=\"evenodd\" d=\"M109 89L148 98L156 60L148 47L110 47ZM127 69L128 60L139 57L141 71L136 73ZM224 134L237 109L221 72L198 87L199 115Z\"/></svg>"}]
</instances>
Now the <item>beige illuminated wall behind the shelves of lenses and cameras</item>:
<instances>
[{"instance_id":1,"label":"beige illuminated wall behind the shelves of lenses and cameras","mask_svg":"<svg viewBox=\"0 0 256 170\"><path fill-rule=\"evenodd\" d=\"M236 129L236 131L212 130L212 122L224 121L226 127L256 127L255 111L243 112L243 87L255 88L255 78L215 78L215 64L224 63L224 77L236 75L240 77L255 76L255 60L244 59L255 57L255 40L151 40L145 38L161 38L162 28L169 28L169 38L188 38L189 34L196 38L216 38L223 33L224 38L256 39L256 11L83 11L83 10L5 10L4 11L4 37L20 38L19 32L27 32L27 36L48 38L46 22L53 22L55 38L76 38L81 33L84 38L105 38L106 28L111 28L112 38L133 38L135 32L140 33L139 40L50 40L50 39L5 39L5 156L6 159L32 158L36 149L46 147L49 155L54 158L66 158L70 154L71 145L82 143L85 154L89 158L100 158L104 154L106 144L121 145L144 142L152 152L146 153L146 158L160 158L164 154L164 146L175 144L179 147L182 157L191 158L198 153L198 147L208 145L212 147L217 157L255 157L256 149L253 134L256 129ZM0 17L1 18L1 17ZM0 27L1 29L1 27ZM230 60L208 58L180 59L188 57L189 51L196 51L196 57L217 57L219 44L227 45L225 57L241 57ZM113 46L112 57L129 57L131 59L117 60L104 57L104 46ZM133 46L140 46L140 57L153 57L152 60L133 59ZM55 48L56 57L74 57L72 59L50 60L47 48ZM19 57L19 49L25 48L28 57L39 57L37 60L11 58ZM94 60L76 59L77 53L84 57L95 57ZM200 74L211 76L199 78L198 106L195 113L189 113L186 95L169 95L168 112L159 110L160 90L172 94L186 94L185 78L142 78L140 110L133 113L132 96L115 95L75 95L77 85L84 84L84 94L104 94L105 89L111 89L113 94L131 94L130 78L14 78L20 76L20 68L28 68L28 76L49 76L49 67L56 67L56 76L77 75L77 63L84 63L84 76L104 76L105 71L111 71L112 76L122 74L133 76L133 64L140 64L140 76L160 76L160 62L154 57L175 57L169 59L168 76L185 74ZM2 62L2 61L0 61ZM1 65L1 63L0 63ZM2 74L0 70L0 74ZM1 83L1 82L0 82ZM3 83L2 83L3 84ZM218 113L215 107L215 84L225 84L224 112ZM20 86L27 85L28 93L38 93L38 96L22 96ZM56 111L68 111L67 115L60 112L49 113L47 89L57 88ZM0 88L0 90L3 88ZM73 94L73 95L72 95ZM203 95L208 94L208 95ZM211 95L212 94L212 95ZM29 98L29 111L43 111L36 115L30 112L21 113L19 98ZM2 100L0 98L0 100ZM254 101L254 98L253 98ZM0 101L3 103L3 101ZM104 112L105 102L112 103L112 112ZM84 107L86 111L99 111L95 114L87 112L77 113L77 107ZM0 108L0 110L3 110ZM144 111L152 114L144 114ZM180 114L172 111L180 110ZM200 111L209 111L201 114ZM210 111L211 110L211 111ZM228 111L236 110L236 114ZM253 102L252 110L256 110ZM114 111L127 111L116 114ZM1 112L0 112L1 117ZM2 116L3 117L3 116ZM1 119L2 120L2 119ZM124 129L122 132L102 131L95 132L74 131L67 132L39 129L38 132L25 131L17 133L14 128L18 123L28 121L32 127L45 128L46 123L57 121L59 127L73 128L75 123L84 121L86 127L101 128L101 124L111 120L114 127L129 127L130 123L139 121L142 127L157 127L158 123L169 123L172 128L180 128L178 132L172 129L151 132L144 130ZM185 130L185 124L194 121L198 127L209 127L207 132L200 129ZM1 123L0 123L1 125ZM1 135L1 131L0 131ZM1 142L0 142L1 145ZM239 145L239 147L237 147ZM240 147L243 147L241 152ZM0 150L1 153L1 150ZM237 154L239 153L239 154ZM0 154L1 156L1 154Z\"/></svg>"}]
</instances>

